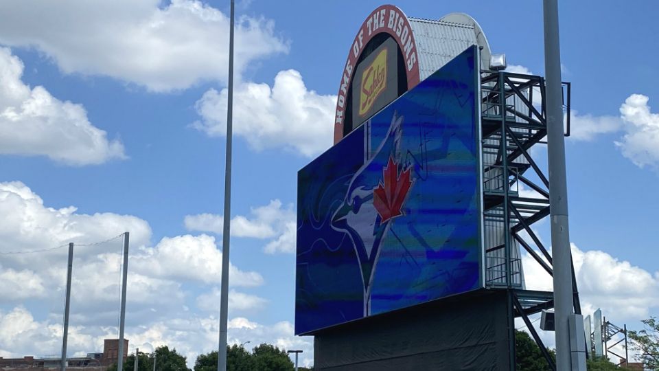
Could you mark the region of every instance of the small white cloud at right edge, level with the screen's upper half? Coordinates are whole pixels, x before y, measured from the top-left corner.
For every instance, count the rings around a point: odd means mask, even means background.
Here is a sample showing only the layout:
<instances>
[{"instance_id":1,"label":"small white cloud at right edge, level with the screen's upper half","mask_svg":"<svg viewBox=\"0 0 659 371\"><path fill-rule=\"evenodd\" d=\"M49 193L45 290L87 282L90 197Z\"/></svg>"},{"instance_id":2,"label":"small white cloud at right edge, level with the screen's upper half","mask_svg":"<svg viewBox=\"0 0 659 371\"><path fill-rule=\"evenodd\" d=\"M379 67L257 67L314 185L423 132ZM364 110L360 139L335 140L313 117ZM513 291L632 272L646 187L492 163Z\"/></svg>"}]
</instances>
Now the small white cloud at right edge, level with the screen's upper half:
<instances>
[{"instance_id":1,"label":"small white cloud at right edge, level with the screen's upper half","mask_svg":"<svg viewBox=\"0 0 659 371\"><path fill-rule=\"evenodd\" d=\"M625 135L616 142L636 166L659 169L659 114L651 113L645 95L632 94L620 107Z\"/></svg>"}]
</instances>

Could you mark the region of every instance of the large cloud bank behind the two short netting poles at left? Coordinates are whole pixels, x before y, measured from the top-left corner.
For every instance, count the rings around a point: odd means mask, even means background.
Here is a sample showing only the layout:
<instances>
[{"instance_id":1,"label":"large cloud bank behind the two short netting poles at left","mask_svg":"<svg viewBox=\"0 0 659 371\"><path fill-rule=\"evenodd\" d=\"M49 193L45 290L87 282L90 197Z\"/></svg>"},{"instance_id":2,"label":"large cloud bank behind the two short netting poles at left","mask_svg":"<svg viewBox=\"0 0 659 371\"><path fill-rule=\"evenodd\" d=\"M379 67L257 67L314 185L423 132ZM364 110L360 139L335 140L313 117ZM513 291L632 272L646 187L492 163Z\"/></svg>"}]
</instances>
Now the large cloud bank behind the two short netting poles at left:
<instances>
[{"instance_id":1,"label":"large cloud bank behind the two short netting poles at left","mask_svg":"<svg viewBox=\"0 0 659 371\"><path fill-rule=\"evenodd\" d=\"M211 236L163 238L148 247L151 229L146 221L112 213L78 214L75 207L46 207L20 182L0 183L0 213L5 216L0 223L0 304L30 299L39 303L41 315L58 313L59 318L68 252L67 244L60 244L73 241L71 324L116 326L123 241L119 234L126 230L131 236L126 311L132 321L150 322L184 311L187 282L220 282L222 254ZM112 236L117 237L106 240ZM229 275L233 286L263 284L259 273L233 264Z\"/></svg>"}]
</instances>

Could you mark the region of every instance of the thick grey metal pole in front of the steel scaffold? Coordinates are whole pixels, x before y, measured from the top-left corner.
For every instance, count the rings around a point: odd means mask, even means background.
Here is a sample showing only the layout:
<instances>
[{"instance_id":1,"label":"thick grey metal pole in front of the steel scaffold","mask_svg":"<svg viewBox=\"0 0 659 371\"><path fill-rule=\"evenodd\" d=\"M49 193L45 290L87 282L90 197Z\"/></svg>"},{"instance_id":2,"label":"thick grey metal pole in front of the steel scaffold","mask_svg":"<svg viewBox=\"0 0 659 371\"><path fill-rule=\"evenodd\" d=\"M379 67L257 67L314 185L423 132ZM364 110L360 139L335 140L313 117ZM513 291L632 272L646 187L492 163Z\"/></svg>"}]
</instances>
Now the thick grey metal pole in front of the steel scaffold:
<instances>
[{"instance_id":1,"label":"thick grey metal pole in front of the steel scaffold","mask_svg":"<svg viewBox=\"0 0 659 371\"><path fill-rule=\"evenodd\" d=\"M558 32L558 2L544 0L549 210L556 325L556 370L572 370L568 319L573 311L572 256L568 229L568 187L563 133L563 91Z\"/></svg>"}]
</instances>

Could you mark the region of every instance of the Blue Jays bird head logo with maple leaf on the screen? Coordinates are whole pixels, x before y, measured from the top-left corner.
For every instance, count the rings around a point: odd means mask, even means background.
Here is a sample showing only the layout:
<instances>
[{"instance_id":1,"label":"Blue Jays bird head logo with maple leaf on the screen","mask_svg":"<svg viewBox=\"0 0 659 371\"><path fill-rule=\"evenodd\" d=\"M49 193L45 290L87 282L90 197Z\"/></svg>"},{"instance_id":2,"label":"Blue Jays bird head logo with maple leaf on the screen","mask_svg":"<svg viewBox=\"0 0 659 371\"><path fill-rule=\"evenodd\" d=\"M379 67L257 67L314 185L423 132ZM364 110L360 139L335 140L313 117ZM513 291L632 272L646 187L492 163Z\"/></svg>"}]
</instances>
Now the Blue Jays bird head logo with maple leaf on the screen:
<instances>
[{"instance_id":1,"label":"Blue Jays bird head logo with maple leaf on the screen","mask_svg":"<svg viewBox=\"0 0 659 371\"><path fill-rule=\"evenodd\" d=\"M400 141L403 118L393 113L389 131L378 148L373 151L373 155L369 156L371 151L365 146L365 163L349 181L345 199L332 216L332 229L345 232L356 252L364 284L365 316L371 312L371 289L380 245L389 230L392 218L402 214L400 207L412 185L409 169L402 171L400 175L398 172L401 163ZM365 123L365 125L369 124L370 122ZM368 142L369 130L364 132ZM401 181L404 186L397 186L398 179L402 177L406 178ZM391 202L391 199L394 203L397 200L397 212L383 214L382 208L387 210L386 207L389 207L387 202Z\"/></svg>"}]
</instances>

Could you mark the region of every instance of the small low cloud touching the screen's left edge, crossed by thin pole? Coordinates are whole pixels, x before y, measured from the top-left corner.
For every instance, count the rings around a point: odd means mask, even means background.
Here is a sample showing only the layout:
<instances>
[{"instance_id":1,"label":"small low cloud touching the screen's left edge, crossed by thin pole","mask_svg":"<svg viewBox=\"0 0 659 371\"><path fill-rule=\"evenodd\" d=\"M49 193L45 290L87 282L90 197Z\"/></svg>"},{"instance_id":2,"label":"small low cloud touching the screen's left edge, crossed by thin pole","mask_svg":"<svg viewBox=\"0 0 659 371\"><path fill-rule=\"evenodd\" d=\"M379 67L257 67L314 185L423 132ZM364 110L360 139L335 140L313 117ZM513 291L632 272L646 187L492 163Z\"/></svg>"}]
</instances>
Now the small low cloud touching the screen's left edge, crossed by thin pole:
<instances>
[{"instance_id":1,"label":"small low cloud touching the screen's left edge, crossed by thin pole","mask_svg":"<svg viewBox=\"0 0 659 371\"><path fill-rule=\"evenodd\" d=\"M264 247L268 254L290 253L295 249L296 221L293 205L284 207L278 199L268 205L253 207L251 216L231 218L231 235L236 237L271 238ZM224 218L216 214L185 216L185 227L189 231L222 234Z\"/></svg>"}]
</instances>

